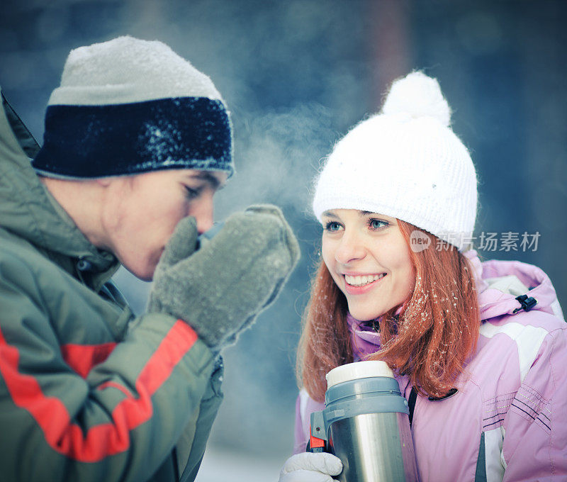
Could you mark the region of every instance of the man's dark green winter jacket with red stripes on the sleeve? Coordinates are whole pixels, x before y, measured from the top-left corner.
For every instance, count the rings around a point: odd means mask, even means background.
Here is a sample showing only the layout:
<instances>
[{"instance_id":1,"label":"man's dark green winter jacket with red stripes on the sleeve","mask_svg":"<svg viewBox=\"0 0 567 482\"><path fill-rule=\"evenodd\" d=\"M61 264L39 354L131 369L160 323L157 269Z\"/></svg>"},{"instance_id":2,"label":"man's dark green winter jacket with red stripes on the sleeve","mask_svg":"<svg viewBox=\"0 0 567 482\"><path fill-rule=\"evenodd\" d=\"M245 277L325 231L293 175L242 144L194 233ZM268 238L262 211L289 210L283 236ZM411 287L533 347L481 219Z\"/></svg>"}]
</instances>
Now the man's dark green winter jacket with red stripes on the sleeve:
<instances>
[{"instance_id":1,"label":"man's dark green winter jacket with red stripes on the sleeve","mask_svg":"<svg viewBox=\"0 0 567 482\"><path fill-rule=\"evenodd\" d=\"M0 481L193 481L222 362L181 320L135 318L0 108Z\"/></svg>"}]
</instances>

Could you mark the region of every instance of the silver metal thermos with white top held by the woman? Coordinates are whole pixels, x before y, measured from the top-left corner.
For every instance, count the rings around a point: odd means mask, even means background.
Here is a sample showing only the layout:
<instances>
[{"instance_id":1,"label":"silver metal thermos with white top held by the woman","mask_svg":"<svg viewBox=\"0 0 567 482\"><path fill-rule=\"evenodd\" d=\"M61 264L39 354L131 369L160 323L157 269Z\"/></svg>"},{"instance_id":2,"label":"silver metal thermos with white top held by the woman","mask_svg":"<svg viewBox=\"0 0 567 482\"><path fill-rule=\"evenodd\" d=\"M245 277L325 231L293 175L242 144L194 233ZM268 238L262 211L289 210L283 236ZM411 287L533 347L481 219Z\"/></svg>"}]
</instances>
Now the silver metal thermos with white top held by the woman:
<instances>
[{"instance_id":1,"label":"silver metal thermos with white top held by the woman","mask_svg":"<svg viewBox=\"0 0 567 482\"><path fill-rule=\"evenodd\" d=\"M385 362L337 366L327 374L325 410L311 414L311 449L325 444L341 459L341 482L417 481L408 414Z\"/></svg>"}]
</instances>

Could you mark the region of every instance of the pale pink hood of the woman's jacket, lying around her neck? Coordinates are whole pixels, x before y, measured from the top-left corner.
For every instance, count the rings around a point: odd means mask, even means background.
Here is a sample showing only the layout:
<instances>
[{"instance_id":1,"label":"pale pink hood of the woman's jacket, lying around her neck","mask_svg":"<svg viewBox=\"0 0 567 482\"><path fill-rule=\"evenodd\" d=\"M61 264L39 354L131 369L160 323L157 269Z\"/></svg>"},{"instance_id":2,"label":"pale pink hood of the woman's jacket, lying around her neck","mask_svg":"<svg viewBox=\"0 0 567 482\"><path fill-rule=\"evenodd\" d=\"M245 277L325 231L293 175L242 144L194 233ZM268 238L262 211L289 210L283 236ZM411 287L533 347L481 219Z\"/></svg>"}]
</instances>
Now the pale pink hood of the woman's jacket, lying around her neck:
<instances>
[{"instance_id":1,"label":"pale pink hood of the woman's jacket, lying around her neck","mask_svg":"<svg viewBox=\"0 0 567 482\"><path fill-rule=\"evenodd\" d=\"M492 259L481 262L475 250L469 250L464 255L474 269L481 320L514 315L514 310L522 308L520 301L516 299L521 295L537 301L532 310L544 311L563 320L555 288L542 269L519 261ZM381 346L380 335L372 329L370 323L356 320L350 313L347 314L347 323L352 335L355 359L374 353Z\"/></svg>"}]
</instances>

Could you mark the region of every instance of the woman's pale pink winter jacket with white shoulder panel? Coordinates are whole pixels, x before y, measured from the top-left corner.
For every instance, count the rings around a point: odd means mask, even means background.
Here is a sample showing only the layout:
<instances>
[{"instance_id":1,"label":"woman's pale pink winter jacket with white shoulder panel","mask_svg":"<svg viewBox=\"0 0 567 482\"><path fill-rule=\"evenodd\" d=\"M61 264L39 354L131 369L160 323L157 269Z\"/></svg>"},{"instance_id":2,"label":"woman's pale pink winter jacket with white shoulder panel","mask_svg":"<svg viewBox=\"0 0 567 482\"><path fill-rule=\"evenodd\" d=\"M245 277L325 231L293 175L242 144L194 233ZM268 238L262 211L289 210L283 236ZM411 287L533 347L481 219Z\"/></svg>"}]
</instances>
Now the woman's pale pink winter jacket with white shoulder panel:
<instances>
[{"instance_id":1,"label":"woman's pale pink winter jacket with white shoulder panel","mask_svg":"<svg viewBox=\"0 0 567 482\"><path fill-rule=\"evenodd\" d=\"M417 397L420 480L567 481L567 323L554 287L530 264L466 256L476 269L481 336L454 396ZM522 294L537 305L514 314ZM349 325L355 359L376 352L379 335L350 316ZM408 398L407 377L397 379ZM294 453L305 451L310 413L322 408L301 390Z\"/></svg>"}]
</instances>

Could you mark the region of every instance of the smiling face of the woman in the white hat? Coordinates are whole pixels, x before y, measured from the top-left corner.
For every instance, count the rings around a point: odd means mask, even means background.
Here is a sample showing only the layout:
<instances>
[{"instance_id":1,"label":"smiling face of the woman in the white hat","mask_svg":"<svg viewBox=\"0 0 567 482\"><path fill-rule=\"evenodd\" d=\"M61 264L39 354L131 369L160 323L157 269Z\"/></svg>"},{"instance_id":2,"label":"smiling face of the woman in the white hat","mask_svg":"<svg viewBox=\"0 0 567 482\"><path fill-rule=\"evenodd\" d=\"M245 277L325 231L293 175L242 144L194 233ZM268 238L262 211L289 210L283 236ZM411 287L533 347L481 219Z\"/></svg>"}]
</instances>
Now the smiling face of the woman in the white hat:
<instances>
[{"instance_id":1,"label":"smiling face of the woman in the white hat","mask_svg":"<svg viewBox=\"0 0 567 482\"><path fill-rule=\"evenodd\" d=\"M395 218L332 209L322 221L323 261L354 318L374 320L409 298L415 270Z\"/></svg>"}]
</instances>

